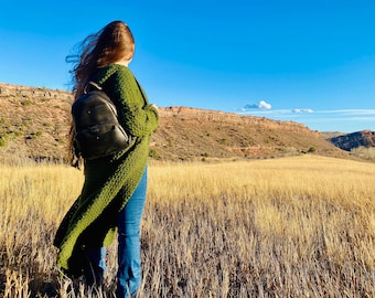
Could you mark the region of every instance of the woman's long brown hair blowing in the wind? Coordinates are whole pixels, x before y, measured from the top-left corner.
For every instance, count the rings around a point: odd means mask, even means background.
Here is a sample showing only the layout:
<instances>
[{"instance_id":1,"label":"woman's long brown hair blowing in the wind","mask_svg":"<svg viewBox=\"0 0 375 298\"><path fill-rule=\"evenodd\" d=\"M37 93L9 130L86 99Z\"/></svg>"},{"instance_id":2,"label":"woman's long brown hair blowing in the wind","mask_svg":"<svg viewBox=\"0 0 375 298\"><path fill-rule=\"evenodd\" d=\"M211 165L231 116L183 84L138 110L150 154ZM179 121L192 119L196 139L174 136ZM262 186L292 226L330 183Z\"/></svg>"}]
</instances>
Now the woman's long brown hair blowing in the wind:
<instances>
[{"instance_id":1,"label":"woman's long brown hair blowing in the wind","mask_svg":"<svg viewBox=\"0 0 375 298\"><path fill-rule=\"evenodd\" d=\"M77 99L88 76L97 68L122 60L131 60L135 53L135 39L129 26L122 21L114 21L95 34L88 35L76 49L76 54L66 56L73 63L74 98ZM71 123L69 153L73 152L74 125ZM71 156L71 159L74 157Z\"/></svg>"}]
</instances>

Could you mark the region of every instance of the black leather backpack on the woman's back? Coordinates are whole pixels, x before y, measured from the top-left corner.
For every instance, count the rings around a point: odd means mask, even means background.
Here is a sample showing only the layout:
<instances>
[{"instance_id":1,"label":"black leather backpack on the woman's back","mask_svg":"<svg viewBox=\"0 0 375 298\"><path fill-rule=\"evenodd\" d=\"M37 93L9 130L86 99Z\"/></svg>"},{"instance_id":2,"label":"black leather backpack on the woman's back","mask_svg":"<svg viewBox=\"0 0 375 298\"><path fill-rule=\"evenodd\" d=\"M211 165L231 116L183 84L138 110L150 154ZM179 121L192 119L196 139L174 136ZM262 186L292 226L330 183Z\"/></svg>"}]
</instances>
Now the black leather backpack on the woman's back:
<instances>
[{"instance_id":1,"label":"black leather backpack on the woman's back","mask_svg":"<svg viewBox=\"0 0 375 298\"><path fill-rule=\"evenodd\" d=\"M125 150L131 137L117 119L117 109L108 95L94 82L72 105L74 146L85 159L96 159Z\"/></svg>"}]
</instances>

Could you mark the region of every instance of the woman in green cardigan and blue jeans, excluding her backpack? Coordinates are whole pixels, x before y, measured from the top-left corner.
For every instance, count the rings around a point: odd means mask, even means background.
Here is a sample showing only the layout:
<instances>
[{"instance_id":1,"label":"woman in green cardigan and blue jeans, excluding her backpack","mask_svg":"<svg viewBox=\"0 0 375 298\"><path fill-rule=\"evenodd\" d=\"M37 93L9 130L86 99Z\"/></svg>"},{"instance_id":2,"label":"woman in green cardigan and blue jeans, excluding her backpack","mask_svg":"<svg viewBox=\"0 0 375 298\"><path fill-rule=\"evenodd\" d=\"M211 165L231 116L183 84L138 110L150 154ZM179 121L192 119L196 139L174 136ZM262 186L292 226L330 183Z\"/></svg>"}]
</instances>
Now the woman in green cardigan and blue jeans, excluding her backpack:
<instances>
[{"instance_id":1,"label":"woman in green cardigan and blue jeans, excluding her backpack","mask_svg":"<svg viewBox=\"0 0 375 298\"><path fill-rule=\"evenodd\" d=\"M147 159L150 136L159 123L157 107L149 104L128 68L133 52L133 36L121 21L107 24L82 43L72 71L75 98L88 81L101 86L116 105L132 143L118 153L84 160L82 193L54 240L60 248L57 265L64 274L84 275L88 285L100 285L106 272L104 246L113 242L118 230L118 297L133 297L140 286L139 226L146 201ZM74 127L71 135L73 140ZM76 163L77 158L73 160Z\"/></svg>"}]
</instances>

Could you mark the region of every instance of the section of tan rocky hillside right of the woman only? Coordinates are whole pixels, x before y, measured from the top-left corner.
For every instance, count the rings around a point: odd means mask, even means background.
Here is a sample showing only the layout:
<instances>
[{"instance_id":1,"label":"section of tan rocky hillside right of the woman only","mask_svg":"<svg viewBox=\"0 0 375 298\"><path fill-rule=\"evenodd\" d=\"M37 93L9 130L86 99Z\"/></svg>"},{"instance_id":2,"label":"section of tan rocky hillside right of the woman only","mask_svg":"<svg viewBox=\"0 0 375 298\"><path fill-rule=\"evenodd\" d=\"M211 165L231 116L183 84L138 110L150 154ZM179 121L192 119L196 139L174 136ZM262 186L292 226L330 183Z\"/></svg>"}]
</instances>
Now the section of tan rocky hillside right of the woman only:
<instances>
[{"instance_id":1,"label":"section of tan rocky hillside right of the woman only","mask_svg":"<svg viewBox=\"0 0 375 298\"><path fill-rule=\"evenodd\" d=\"M346 156L303 125L186 107L162 109L153 140L152 148L168 159Z\"/></svg>"}]
</instances>

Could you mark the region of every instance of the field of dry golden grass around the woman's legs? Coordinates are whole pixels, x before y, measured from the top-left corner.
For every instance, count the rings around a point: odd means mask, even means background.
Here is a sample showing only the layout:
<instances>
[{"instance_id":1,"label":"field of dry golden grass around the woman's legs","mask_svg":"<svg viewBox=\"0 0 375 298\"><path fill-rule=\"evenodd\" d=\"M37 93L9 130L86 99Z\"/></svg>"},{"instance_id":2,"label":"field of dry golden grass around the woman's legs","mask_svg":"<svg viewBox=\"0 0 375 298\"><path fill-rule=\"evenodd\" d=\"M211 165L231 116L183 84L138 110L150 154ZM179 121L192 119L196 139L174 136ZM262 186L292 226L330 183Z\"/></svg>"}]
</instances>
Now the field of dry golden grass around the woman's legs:
<instances>
[{"instance_id":1,"label":"field of dry golden grass around the woman's legs","mask_svg":"<svg viewBox=\"0 0 375 298\"><path fill-rule=\"evenodd\" d=\"M116 245L105 290L57 279L52 238L82 172L1 172L0 296L111 297ZM152 163L139 297L375 297L374 198L374 163Z\"/></svg>"}]
</instances>

